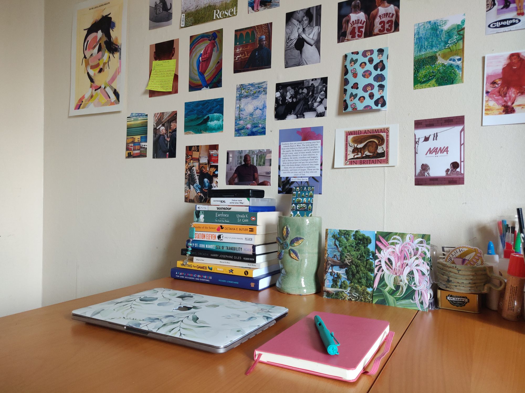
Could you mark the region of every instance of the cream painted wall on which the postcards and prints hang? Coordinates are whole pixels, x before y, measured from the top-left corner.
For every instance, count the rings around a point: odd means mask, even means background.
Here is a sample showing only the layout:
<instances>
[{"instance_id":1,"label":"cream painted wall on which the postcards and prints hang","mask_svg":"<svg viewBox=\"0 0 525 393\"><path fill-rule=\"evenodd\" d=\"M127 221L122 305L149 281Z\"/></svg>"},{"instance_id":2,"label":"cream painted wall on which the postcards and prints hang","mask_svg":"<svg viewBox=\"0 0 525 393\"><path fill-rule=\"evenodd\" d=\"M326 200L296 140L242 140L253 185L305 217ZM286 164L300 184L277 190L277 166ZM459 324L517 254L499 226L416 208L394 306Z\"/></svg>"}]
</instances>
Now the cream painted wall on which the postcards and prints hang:
<instances>
[{"instance_id":1,"label":"cream painted wall on which the postcards and prints hang","mask_svg":"<svg viewBox=\"0 0 525 393\"><path fill-rule=\"evenodd\" d=\"M485 36L485 3L479 0L422 2L403 0L401 31L362 41L336 43L337 1L286 0L281 7L247 14L239 0L234 18L185 29L174 24L148 30L148 4L129 1L126 112L68 117L71 15L75 2L46 1L44 133L44 304L86 296L169 275L180 258L192 221L192 204L183 202L184 146L219 144L219 185L225 186L226 150L278 149L279 128L324 126L324 187L317 199L323 228L407 231L432 234L436 246L485 247L495 237L496 216L512 214L525 202L523 124L481 127L483 56L523 49L525 30ZM178 2L174 2L178 3ZM284 69L285 12L322 3L321 63ZM465 83L414 91L413 28L417 22L466 13ZM272 21L270 70L233 74L235 28ZM223 88L187 92L189 36L224 28ZM148 98L148 47L180 41L180 93ZM520 44L521 42L521 44ZM388 46L388 110L342 114L342 58L353 50ZM328 116L275 122L277 82L328 76ZM235 85L268 81L267 135L234 138ZM185 136L185 101L225 97L225 131ZM124 159L125 121L129 112L177 110L180 114L177 158ZM415 187L414 119L465 115L466 181L449 187ZM399 124L400 159L396 167L333 169L334 129ZM150 146L151 146L150 118ZM505 162L505 163L503 163ZM277 195L277 165L266 195L286 209L290 196ZM516 179L501 191L505 179ZM521 181L520 181L521 180Z\"/></svg>"}]
</instances>

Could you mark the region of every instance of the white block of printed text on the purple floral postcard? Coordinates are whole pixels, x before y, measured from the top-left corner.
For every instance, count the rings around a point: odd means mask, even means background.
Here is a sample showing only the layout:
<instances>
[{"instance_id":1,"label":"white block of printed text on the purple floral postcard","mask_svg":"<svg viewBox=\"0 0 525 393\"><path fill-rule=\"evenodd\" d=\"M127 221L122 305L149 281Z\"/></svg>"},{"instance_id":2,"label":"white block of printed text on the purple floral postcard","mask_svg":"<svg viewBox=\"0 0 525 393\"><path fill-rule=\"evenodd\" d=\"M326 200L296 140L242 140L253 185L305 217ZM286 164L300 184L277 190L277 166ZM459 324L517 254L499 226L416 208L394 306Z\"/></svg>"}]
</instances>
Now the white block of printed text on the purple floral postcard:
<instances>
[{"instance_id":1,"label":"white block of printed text on the purple floral postcard","mask_svg":"<svg viewBox=\"0 0 525 393\"><path fill-rule=\"evenodd\" d=\"M281 143L281 177L319 176L321 141Z\"/></svg>"}]
</instances>

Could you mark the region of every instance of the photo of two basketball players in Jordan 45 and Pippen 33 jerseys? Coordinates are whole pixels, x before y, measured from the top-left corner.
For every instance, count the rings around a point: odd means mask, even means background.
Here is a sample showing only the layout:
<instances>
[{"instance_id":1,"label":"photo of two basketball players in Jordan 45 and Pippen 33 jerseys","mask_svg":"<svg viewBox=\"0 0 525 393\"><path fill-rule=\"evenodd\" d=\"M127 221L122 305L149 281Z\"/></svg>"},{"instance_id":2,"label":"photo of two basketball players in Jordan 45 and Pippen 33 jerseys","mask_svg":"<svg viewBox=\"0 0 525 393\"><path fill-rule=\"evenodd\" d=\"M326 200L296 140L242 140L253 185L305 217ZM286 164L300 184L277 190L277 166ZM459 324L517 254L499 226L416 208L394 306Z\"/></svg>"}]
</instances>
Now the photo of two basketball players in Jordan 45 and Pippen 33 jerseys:
<instances>
[{"instance_id":1,"label":"photo of two basketball players in Jordan 45 and Pippen 33 jerseys","mask_svg":"<svg viewBox=\"0 0 525 393\"><path fill-rule=\"evenodd\" d=\"M346 0L338 5L337 42L399 31L401 0Z\"/></svg>"}]
</instances>

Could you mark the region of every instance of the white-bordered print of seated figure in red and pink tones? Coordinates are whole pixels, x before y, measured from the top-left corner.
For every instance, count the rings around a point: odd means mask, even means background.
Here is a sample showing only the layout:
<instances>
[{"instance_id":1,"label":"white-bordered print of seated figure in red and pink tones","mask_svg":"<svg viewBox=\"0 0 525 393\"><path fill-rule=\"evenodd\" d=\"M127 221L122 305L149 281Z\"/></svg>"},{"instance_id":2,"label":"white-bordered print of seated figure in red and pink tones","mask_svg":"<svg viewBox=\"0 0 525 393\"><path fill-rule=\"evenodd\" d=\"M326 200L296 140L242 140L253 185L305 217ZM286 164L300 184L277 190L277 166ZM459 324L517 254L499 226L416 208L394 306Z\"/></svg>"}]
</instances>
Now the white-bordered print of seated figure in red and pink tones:
<instances>
[{"instance_id":1,"label":"white-bordered print of seated figure in red and pink tones","mask_svg":"<svg viewBox=\"0 0 525 393\"><path fill-rule=\"evenodd\" d=\"M525 50L485 56L483 125L525 123Z\"/></svg>"}]
</instances>

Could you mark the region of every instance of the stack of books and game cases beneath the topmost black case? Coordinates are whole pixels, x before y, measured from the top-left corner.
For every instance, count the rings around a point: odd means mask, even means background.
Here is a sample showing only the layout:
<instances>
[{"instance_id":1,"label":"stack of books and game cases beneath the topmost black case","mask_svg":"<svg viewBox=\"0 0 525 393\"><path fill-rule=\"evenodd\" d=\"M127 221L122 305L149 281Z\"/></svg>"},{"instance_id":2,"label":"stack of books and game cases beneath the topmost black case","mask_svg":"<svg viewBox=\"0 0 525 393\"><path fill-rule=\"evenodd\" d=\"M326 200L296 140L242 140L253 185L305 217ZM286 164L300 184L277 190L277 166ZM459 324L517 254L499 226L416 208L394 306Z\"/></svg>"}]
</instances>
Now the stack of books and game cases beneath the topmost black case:
<instances>
[{"instance_id":1,"label":"stack of books and game cases beneath the topmost black case","mask_svg":"<svg viewBox=\"0 0 525 393\"><path fill-rule=\"evenodd\" d=\"M275 199L212 198L211 205L196 205L193 238L173 278L260 291L279 277Z\"/></svg>"}]
</instances>

